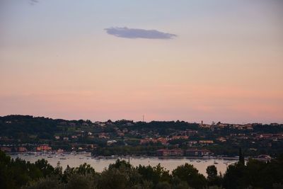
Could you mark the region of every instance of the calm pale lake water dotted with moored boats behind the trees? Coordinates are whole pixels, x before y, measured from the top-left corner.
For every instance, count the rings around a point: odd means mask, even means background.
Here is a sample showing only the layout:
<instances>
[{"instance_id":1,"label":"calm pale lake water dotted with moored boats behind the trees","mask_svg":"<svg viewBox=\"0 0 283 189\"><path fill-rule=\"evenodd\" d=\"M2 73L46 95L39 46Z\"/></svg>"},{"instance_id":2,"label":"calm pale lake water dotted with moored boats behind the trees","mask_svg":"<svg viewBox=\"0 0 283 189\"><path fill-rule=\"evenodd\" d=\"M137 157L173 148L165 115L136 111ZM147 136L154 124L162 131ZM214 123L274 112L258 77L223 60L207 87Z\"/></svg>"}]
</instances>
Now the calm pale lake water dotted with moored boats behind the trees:
<instances>
[{"instance_id":1,"label":"calm pale lake water dotted with moored boats behind the trees","mask_svg":"<svg viewBox=\"0 0 283 189\"><path fill-rule=\"evenodd\" d=\"M88 157L83 154L64 154L62 155L52 155L48 157L48 154L42 154L35 156L33 154L27 155L27 154L18 154L18 155L11 155L12 158L19 157L21 159L25 159L25 161L35 162L37 159L47 159L47 161L52 165L56 166L57 162L60 162L60 165L63 168L66 168L67 165L74 167L79 166L83 163L91 164L93 168L95 168L96 171L100 172L103 171L104 168L107 168L109 164L115 163L117 159L94 159L91 157ZM62 159L63 158L63 159ZM66 159L64 159L66 158ZM122 158L123 159L123 158ZM125 159L128 161L128 159ZM216 162L216 164L215 164ZM225 173L226 167L230 164L235 163L236 160L226 160L226 159L158 159L154 157L150 158L130 158L129 163L133 166L139 166L139 164L143 166L151 165L156 166L157 164L161 164L164 168L166 168L169 171L173 171L174 168L177 166L183 165L185 163L192 164L197 168L197 170L200 171L200 173L204 174L206 176L206 168L210 165L215 165L217 168L217 171L221 171L221 173Z\"/></svg>"}]
</instances>

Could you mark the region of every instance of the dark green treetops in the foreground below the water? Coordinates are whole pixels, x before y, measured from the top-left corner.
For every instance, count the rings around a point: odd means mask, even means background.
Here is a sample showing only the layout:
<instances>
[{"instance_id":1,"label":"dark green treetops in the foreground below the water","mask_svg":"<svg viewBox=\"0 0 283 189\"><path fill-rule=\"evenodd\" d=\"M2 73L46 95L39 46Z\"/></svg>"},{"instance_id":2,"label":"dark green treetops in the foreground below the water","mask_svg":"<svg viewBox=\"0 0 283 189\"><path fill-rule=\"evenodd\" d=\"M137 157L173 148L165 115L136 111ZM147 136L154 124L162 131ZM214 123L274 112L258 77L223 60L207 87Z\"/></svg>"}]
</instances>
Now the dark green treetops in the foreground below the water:
<instances>
[{"instance_id":1,"label":"dark green treetops in the foreground below the water","mask_svg":"<svg viewBox=\"0 0 283 189\"><path fill-rule=\"evenodd\" d=\"M283 156L268 162L243 159L230 165L223 175L214 165L207 167L207 177L184 164L172 173L160 166L134 167L119 159L101 173L88 164L63 171L45 159L34 164L11 159L0 151L0 188L282 188Z\"/></svg>"}]
</instances>

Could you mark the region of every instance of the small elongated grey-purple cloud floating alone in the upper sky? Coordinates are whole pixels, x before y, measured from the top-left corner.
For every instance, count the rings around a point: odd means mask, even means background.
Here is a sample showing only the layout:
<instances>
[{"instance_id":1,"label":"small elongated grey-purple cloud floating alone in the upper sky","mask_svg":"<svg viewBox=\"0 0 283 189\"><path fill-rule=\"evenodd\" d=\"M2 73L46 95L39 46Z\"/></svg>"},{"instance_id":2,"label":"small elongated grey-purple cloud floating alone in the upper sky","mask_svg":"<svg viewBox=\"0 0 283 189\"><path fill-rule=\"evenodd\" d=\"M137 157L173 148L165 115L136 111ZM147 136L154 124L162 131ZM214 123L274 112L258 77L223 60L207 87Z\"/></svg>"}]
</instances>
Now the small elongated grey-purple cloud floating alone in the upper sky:
<instances>
[{"instance_id":1,"label":"small elongated grey-purple cloud floating alone in the upper sky","mask_svg":"<svg viewBox=\"0 0 283 189\"><path fill-rule=\"evenodd\" d=\"M112 27L112 28L105 28L106 33L109 35L114 35L119 38L145 38L145 39L172 39L177 37L177 35L172 33L163 33L158 30L144 30L144 29L137 29L137 28L120 28L120 27Z\"/></svg>"}]
</instances>

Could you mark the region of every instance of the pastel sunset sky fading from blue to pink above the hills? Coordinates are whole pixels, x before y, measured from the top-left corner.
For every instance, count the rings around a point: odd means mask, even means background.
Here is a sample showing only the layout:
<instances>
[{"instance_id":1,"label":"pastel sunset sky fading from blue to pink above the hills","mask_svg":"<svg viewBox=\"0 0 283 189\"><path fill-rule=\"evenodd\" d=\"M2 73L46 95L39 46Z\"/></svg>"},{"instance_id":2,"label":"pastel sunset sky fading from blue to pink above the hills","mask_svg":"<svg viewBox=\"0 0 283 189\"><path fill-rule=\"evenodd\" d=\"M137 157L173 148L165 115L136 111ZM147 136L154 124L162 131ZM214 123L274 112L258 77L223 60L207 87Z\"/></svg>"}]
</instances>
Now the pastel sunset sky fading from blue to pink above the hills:
<instances>
[{"instance_id":1,"label":"pastel sunset sky fading from blue to pink above the hills","mask_svg":"<svg viewBox=\"0 0 283 189\"><path fill-rule=\"evenodd\" d=\"M283 1L1 0L0 115L283 123Z\"/></svg>"}]
</instances>

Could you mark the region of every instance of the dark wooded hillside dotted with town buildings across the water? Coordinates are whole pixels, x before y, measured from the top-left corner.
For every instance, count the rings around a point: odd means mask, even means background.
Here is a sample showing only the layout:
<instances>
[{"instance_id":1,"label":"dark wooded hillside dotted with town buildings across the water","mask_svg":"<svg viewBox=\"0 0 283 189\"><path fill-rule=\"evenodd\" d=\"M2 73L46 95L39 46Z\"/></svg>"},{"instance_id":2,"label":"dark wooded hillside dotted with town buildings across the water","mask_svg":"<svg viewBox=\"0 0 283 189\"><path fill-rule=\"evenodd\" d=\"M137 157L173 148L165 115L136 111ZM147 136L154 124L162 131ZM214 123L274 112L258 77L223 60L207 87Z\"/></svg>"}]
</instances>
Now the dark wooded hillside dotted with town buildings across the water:
<instances>
[{"instance_id":1,"label":"dark wooded hillside dotted with town buildings across the water","mask_svg":"<svg viewBox=\"0 0 283 189\"><path fill-rule=\"evenodd\" d=\"M93 156L246 156L282 153L283 125L0 117L0 149L88 151Z\"/></svg>"}]
</instances>

